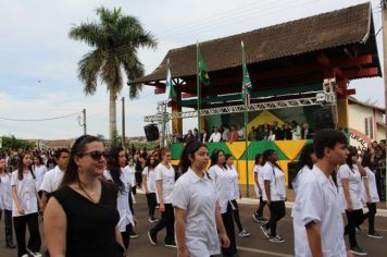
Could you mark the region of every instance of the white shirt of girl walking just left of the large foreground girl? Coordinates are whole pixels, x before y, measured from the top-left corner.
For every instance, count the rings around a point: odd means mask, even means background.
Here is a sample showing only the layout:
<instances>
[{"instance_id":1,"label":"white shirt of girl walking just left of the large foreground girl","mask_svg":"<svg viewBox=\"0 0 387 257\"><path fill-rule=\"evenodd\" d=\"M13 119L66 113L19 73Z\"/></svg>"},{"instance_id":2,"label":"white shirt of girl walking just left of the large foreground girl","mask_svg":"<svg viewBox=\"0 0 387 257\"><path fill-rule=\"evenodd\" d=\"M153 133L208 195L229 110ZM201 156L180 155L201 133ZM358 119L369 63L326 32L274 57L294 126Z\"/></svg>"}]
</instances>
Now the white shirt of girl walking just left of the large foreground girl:
<instances>
[{"instance_id":1,"label":"white shirt of girl walking just left of the large foreground girl","mask_svg":"<svg viewBox=\"0 0 387 257\"><path fill-rule=\"evenodd\" d=\"M163 163L159 163L154 168L155 180L162 182L162 193L164 204L172 204L172 192L175 184L175 170L172 164L170 168L165 167ZM160 199L160 196L159 196Z\"/></svg>"}]
</instances>

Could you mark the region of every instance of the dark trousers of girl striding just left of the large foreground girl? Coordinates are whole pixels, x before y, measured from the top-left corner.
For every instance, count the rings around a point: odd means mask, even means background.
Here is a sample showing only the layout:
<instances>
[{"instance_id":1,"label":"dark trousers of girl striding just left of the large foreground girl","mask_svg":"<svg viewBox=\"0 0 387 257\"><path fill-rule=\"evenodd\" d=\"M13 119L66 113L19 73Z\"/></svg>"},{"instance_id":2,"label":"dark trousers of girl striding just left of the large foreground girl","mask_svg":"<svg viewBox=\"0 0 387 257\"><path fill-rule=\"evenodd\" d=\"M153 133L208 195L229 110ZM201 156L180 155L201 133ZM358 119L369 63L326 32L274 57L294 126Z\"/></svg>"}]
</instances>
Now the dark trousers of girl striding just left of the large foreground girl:
<instances>
[{"instance_id":1,"label":"dark trousers of girl striding just left of the large foreground girl","mask_svg":"<svg viewBox=\"0 0 387 257\"><path fill-rule=\"evenodd\" d=\"M161 219L151 229L151 233L157 234L162 229L166 228L165 244L172 244L175 242L175 213L172 204L164 204L165 211L161 212Z\"/></svg>"}]
</instances>

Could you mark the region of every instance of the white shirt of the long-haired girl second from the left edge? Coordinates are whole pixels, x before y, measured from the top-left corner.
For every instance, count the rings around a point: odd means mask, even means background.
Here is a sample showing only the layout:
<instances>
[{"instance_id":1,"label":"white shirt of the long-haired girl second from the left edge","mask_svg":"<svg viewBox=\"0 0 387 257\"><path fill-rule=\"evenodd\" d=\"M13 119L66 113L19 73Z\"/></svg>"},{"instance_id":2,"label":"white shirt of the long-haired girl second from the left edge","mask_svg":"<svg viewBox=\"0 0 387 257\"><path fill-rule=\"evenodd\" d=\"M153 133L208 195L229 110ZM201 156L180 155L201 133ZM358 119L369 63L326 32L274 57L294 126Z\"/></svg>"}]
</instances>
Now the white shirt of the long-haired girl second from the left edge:
<instances>
[{"instance_id":1,"label":"white shirt of the long-haired girl second from the left edge","mask_svg":"<svg viewBox=\"0 0 387 257\"><path fill-rule=\"evenodd\" d=\"M18 180L17 170L12 172L11 186L16 186L17 199L24 210L24 215L18 213L16 204L12 204L12 217L20 217L38 212L38 200L35 195L35 180L30 172L23 174L23 180Z\"/></svg>"}]
</instances>

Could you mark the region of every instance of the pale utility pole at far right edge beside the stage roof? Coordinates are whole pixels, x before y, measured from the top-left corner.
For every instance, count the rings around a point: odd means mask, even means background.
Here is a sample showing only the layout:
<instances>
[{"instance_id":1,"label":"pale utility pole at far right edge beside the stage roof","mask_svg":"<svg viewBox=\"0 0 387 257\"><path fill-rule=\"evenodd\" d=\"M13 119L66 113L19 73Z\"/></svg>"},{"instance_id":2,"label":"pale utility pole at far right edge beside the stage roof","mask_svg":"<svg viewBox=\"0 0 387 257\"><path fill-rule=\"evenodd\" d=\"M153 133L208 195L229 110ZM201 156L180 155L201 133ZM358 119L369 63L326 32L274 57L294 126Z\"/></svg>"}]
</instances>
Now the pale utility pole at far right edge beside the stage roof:
<instances>
[{"instance_id":1,"label":"pale utility pole at far right edge beside the stage roof","mask_svg":"<svg viewBox=\"0 0 387 257\"><path fill-rule=\"evenodd\" d=\"M380 1L382 7L382 27L383 27L383 78L385 83L385 122L387 122L387 0ZM387 138L387 130L386 130ZM386 191L385 200L387 206L387 173L385 173L386 179Z\"/></svg>"}]
</instances>

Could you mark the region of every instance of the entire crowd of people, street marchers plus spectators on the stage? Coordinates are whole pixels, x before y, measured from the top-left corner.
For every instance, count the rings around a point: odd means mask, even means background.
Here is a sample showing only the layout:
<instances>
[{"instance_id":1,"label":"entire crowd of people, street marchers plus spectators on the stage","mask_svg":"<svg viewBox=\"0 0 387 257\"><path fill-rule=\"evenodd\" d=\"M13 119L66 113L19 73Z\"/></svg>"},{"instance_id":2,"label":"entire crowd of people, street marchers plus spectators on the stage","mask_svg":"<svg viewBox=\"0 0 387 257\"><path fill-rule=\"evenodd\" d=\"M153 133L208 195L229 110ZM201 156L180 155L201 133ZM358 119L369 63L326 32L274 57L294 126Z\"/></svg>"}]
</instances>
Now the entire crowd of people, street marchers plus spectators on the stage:
<instances>
[{"instance_id":1,"label":"entire crowd of people, street marchers plus spectators on the stage","mask_svg":"<svg viewBox=\"0 0 387 257\"><path fill-rule=\"evenodd\" d=\"M248 136L264 139L261 132L267 130L267 136L274 134L273 139L278 139L280 135L273 131L284 134L286 126L252 128ZM300 138L312 138L308 124L295 127ZM240 131L232 126L226 140L244 137ZM205 130L200 136L196 133L182 138L186 144L177 167L172 166L167 148L105 149L91 135L77 138L71 149L1 152L0 217L5 246L16 248L18 257L128 255L130 238L138 237L136 197L142 192L152 224L150 244L160 245L158 234L165 229L162 244L177 248L178 257L239 256L236 236L250 233L239 218L238 171L233 156L223 150L215 149L209 156L205 143L223 138L217 127L209 136ZM375 170L385 167L385 140L359 152L340 131L314 133L313 143L301 151L291 182L296 193L291 210L296 256L367 255L366 247L357 241L357 230L365 220L367 236L383 238L375 230L379 201ZM267 241L280 244L286 238L277 228L286 215L287 187L277 160L273 149L255 156L251 172L259 205L252 218ZM367 208L365 213L363 207ZM264 208L270 210L267 218ZM43 222L43 231L39 231L39 222ZM47 249L41 249L41 234ZM345 244L347 235L349 245Z\"/></svg>"}]
</instances>

